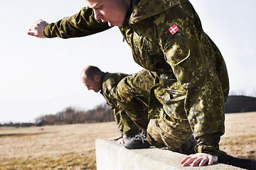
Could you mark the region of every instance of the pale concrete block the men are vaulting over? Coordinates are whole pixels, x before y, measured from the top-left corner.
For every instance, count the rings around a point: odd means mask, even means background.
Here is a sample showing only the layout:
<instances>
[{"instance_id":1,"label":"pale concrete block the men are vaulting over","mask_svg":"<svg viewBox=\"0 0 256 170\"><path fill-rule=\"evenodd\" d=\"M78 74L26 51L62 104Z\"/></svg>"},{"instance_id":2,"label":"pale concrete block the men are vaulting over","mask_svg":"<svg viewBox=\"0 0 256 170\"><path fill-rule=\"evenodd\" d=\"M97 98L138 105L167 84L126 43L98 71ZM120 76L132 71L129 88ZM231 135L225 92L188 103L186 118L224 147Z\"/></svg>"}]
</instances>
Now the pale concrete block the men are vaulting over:
<instances>
[{"instance_id":1,"label":"pale concrete block the men are vaulting over","mask_svg":"<svg viewBox=\"0 0 256 170\"><path fill-rule=\"evenodd\" d=\"M97 170L161 170L161 169L240 169L215 163L211 166L183 167L179 162L186 155L164 149L126 149L116 141L96 140Z\"/></svg>"}]
</instances>

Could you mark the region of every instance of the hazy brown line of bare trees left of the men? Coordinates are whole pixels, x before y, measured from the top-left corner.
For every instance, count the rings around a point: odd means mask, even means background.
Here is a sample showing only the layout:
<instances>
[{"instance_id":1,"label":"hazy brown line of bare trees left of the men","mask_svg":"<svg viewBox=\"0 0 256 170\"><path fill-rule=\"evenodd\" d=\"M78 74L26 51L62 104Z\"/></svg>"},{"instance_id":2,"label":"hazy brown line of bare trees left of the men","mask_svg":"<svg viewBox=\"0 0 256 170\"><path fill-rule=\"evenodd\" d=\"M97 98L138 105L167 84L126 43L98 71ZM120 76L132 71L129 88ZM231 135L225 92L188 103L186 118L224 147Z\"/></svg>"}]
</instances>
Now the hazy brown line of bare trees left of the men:
<instances>
[{"instance_id":1,"label":"hazy brown line of bare trees left of the men","mask_svg":"<svg viewBox=\"0 0 256 170\"><path fill-rule=\"evenodd\" d=\"M114 121L114 113L107 103L102 103L88 111L68 107L56 114L42 115L35 123L4 123L0 126L29 127L43 125L65 125L76 123L103 123Z\"/></svg>"}]
</instances>

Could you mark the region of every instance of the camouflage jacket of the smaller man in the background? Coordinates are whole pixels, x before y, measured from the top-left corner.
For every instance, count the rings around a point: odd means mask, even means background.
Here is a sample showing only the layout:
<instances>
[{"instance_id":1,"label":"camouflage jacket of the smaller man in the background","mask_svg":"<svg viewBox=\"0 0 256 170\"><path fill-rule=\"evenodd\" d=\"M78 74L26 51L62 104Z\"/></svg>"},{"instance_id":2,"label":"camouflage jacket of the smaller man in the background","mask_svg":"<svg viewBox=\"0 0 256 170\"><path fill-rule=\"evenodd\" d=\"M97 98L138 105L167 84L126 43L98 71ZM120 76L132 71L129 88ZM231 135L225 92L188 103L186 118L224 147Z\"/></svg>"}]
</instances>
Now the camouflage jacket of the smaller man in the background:
<instances>
[{"instance_id":1,"label":"camouflage jacket of the smaller man in the background","mask_svg":"<svg viewBox=\"0 0 256 170\"><path fill-rule=\"evenodd\" d=\"M120 80L126 77L127 74L103 72L102 90L100 94L104 96L107 103L114 110L114 119L117 123L118 130L122 135L134 136L139 134L139 128L135 125L131 118L125 113L117 103L117 84Z\"/></svg>"}]
</instances>

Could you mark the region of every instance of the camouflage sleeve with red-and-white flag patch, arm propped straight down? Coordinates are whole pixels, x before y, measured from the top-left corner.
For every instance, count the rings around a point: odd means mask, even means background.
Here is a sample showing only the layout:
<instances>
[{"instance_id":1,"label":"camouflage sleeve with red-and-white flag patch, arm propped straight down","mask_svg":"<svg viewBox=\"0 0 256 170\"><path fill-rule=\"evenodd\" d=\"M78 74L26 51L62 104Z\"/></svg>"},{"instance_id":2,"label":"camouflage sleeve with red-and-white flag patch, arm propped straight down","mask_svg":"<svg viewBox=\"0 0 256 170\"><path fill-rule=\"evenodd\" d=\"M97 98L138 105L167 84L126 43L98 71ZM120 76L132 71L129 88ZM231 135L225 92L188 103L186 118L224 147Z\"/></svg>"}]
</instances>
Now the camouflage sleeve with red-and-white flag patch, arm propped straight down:
<instances>
[{"instance_id":1,"label":"camouflage sleeve with red-and-white flag patch, arm propped straight down","mask_svg":"<svg viewBox=\"0 0 256 170\"><path fill-rule=\"evenodd\" d=\"M171 33L169 29L174 24L179 30ZM218 143L224 133L224 96L215 65L203 51L203 35L198 35L200 32L189 18L178 18L162 28L165 30L161 30L161 48L178 86L185 91L177 96L183 98L186 117L197 141L196 152L218 155ZM172 87L169 90L174 91Z\"/></svg>"}]
</instances>

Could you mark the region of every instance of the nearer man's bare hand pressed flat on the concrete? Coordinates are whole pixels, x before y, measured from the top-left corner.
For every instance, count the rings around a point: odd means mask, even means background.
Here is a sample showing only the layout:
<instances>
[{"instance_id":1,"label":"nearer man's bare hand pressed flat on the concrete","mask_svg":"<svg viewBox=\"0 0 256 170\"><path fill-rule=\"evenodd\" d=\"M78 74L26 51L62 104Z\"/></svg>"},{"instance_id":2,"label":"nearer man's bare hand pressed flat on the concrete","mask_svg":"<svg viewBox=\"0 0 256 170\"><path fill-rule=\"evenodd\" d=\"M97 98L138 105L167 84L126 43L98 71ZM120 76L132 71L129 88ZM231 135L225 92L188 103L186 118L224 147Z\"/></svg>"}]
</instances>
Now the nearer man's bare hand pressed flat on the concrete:
<instances>
[{"instance_id":1,"label":"nearer man's bare hand pressed flat on the concrete","mask_svg":"<svg viewBox=\"0 0 256 170\"><path fill-rule=\"evenodd\" d=\"M208 162L208 165L213 164L213 162L217 162L218 157L213 156L211 154L205 154L205 153L197 153L197 154L190 154L188 157L184 157L181 160L182 166L188 166L191 164L191 166L203 166Z\"/></svg>"}]
</instances>

